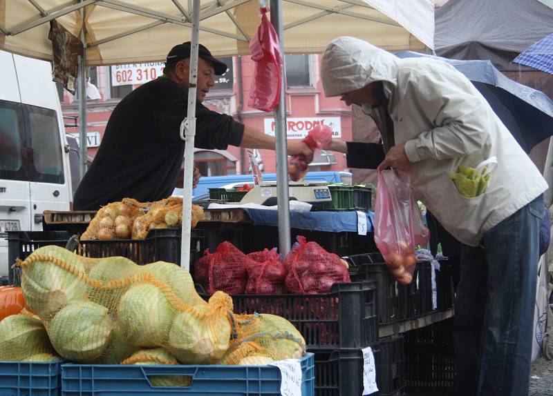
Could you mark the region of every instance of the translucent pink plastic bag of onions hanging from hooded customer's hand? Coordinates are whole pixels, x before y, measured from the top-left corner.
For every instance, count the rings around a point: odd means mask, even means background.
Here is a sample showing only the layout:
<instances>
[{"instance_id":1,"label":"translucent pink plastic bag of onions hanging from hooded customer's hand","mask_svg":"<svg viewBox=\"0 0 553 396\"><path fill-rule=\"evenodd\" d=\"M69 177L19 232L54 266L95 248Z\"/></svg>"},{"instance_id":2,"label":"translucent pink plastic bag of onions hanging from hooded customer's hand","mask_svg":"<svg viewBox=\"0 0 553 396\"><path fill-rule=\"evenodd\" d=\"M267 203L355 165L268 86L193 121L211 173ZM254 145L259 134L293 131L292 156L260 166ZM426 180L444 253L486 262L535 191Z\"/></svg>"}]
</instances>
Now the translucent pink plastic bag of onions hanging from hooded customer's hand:
<instances>
[{"instance_id":1,"label":"translucent pink plastic bag of onions hanging from hooded customer's hand","mask_svg":"<svg viewBox=\"0 0 553 396\"><path fill-rule=\"evenodd\" d=\"M422 223L413 199L409 173L378 172L375 203L375 243L388 270L400 282L410 284L415 271L415 246L426 245L430 232Z\"/></svg>"}]
</instances>

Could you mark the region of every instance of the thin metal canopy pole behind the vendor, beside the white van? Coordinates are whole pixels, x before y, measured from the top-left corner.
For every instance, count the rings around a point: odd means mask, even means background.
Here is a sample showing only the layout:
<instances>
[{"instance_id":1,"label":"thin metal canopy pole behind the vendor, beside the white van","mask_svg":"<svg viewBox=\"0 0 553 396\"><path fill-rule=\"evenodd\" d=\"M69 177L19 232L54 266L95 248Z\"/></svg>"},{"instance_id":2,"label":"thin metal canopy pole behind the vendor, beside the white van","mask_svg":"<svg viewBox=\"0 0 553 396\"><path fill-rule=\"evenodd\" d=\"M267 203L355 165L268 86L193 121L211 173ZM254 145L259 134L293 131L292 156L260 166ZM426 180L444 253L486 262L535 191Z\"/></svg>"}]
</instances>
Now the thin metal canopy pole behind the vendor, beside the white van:
<instances>
[{"instance_id":1,"label":"thin metal canopy pole behind the vendor, beside the white van","mask_svg":"<svg viewBox=\"0 0 553 396\"><path fill-rule=\"evenodd\" d=\"M80 1L81 0L79 0L79 2ZM80 13L82 18L82 56L78 57L79 72L77 77L77 88L79 90L79 180L82 180L84 174L86 173L86 160L88 159L88 141L86 140L86 33L84 32L84 8L80 9Z\"/></svg>"}]
</instances>

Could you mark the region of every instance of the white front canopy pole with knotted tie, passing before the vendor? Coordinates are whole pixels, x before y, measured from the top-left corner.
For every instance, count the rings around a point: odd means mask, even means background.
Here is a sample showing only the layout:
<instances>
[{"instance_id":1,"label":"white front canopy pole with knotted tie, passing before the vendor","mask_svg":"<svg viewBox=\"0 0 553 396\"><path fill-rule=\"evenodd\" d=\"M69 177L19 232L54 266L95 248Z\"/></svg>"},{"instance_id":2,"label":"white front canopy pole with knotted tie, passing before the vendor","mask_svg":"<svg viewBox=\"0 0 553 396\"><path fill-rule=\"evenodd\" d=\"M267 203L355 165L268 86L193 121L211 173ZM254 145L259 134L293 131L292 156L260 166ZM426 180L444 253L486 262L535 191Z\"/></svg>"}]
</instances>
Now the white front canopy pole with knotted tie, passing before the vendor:
<instances>
[{"instance_id":1,"label":"white front canopy pole with knotted tie, passing before the vendor","mask_svg":"<svg viewBox=\"0 0 553 396\"><path fill-rule=\"evenodd\" d=\"M188 83L188 113L180 124L180 138L186 141L185 177L182 197L182 237L180 267L190 271L190 237L192 219L192 182L194 174L194 137L196 136L196 81L198 77L198 43L200 41L200 0L194 0L192 10L192 41Z\"/></svg>"}]
</instances>

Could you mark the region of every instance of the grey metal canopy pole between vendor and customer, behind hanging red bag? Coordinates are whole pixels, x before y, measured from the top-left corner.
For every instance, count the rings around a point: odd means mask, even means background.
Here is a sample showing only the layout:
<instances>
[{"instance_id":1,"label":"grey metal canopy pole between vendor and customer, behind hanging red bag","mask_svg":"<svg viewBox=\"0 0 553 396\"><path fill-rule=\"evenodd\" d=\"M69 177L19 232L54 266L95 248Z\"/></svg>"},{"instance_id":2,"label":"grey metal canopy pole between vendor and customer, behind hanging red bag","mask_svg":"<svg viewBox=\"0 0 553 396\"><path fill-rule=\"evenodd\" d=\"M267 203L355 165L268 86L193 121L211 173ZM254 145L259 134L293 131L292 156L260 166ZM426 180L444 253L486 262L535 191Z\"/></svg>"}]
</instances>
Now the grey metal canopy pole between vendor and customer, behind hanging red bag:
<instances>
[{"instance_id":1,"label":"grey metal canopy pole between vendor and customer, behind hanging red bag","mask_svg":"<svg viewBox=\"0 0 553 396\"><path fill-rule=\"evenodd\" d=\"M282 27L282 0L271 0L271 23L274 27L284 57L284 34ZM284 61L284 59L283 59ZM288 189L288 147L286 133L285 72L282 70L279 106L274 110L274 137L277 151L277 199L279 210L279 251L282 257L290 252L290 192Z\"/></svg>"}]
</instances>

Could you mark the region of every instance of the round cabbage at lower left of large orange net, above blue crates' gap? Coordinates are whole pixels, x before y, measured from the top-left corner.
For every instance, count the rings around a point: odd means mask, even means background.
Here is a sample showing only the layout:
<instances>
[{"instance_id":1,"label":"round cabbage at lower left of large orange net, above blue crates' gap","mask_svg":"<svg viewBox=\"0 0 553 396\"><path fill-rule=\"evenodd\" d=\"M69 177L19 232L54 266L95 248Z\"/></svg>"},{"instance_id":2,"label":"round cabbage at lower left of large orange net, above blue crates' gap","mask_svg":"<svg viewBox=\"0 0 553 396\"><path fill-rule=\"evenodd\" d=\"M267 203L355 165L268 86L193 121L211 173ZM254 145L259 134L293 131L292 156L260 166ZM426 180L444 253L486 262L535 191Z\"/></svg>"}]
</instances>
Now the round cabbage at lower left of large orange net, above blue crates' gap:
<instances>
[{"instance_id":1,"label":"round cabbage at lower left of large orange net, above blue crates' gap","mask_svg":"<svg viewBox=\"0 0 553 396\"><path fill-rule=\"evenodd\" d=\"M106 350L113 324L106 307L78 301L59 310L48 330L59 355L73 362L88 363Z\"/></svg>"}]
</instances>

